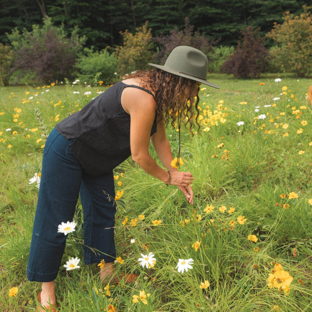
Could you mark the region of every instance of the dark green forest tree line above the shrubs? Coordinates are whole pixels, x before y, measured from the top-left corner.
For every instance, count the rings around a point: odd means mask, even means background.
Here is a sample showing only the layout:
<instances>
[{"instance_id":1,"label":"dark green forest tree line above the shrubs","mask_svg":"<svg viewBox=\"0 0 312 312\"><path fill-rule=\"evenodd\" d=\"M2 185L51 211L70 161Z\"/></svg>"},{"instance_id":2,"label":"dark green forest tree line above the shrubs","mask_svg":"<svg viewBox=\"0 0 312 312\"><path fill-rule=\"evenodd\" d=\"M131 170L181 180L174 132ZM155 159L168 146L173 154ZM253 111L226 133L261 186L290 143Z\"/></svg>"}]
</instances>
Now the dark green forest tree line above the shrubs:
<instances>
[{"instance_id":1,"label":"dark green forest tree line above the shrubs","mask_svg":"<svg viewBox=\"0 0 312 312\"><path fill-rule=\"evenodd\" d=\"M306 0L1 0L0 42L7 44L6 33L17 27L31 31L51 17L54 25L64 25L71 33L79 27L85 46L101 50L120 45L120 32L135 32L149 21L153 37L167 35L175 26L183 29L185 17L194 31L205 34L219 45L237 44L243 26L260 27L269 32L273 23L282 22L282 13L302 13ZM270 41L266 41L270 46Z\"/></svg>"}]
</instances>

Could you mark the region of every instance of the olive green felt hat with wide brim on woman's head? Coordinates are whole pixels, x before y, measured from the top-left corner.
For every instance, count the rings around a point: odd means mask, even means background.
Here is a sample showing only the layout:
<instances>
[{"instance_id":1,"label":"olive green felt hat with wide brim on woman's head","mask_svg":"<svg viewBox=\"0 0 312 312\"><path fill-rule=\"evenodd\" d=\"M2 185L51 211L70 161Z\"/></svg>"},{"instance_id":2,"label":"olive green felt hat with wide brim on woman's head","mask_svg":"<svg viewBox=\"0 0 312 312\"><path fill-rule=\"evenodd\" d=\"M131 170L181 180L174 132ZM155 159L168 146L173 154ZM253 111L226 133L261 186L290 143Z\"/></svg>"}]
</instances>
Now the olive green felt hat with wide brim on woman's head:
<instances>
[{"instance_id":1,"label":"olive green felt hat with wide brim on woman's head","mask_svg":"<svg viewBox=\"0 0 312 312\"><path fill-rule=\"evenodd\" d=\"M213 88L219 86L207 81L208 60L207 56L191 46L177 46L169 54L165 65L151 64L168 73L198 81Z\"/></svg>"}]
</instances>

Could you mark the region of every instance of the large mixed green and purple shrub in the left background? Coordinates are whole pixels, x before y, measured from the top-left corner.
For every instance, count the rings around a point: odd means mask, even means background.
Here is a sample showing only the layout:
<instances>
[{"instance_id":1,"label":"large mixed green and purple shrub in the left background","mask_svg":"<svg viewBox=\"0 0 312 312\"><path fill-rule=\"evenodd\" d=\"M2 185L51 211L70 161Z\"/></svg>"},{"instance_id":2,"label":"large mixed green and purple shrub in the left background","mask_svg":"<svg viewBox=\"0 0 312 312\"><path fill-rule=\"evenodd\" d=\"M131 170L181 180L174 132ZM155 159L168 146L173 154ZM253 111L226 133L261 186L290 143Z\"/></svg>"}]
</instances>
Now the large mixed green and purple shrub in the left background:
<instances>
[{"instance_id":1,"label":"large mixed green and purple shrub in the left background","mask_svg":"<svg viewBox=\"0 0 312 312\"><path fill-rule=\"evenodd\" d=\"M15 28L7 37L16 55L14 69L34 71L46 83L71 76L85 41L78 37L77 29L68 38L63 26L53 26L49 17L43 19L42 27L33 25L31 32L24 29L22 33Z\"/></svg>"}]
</instances>

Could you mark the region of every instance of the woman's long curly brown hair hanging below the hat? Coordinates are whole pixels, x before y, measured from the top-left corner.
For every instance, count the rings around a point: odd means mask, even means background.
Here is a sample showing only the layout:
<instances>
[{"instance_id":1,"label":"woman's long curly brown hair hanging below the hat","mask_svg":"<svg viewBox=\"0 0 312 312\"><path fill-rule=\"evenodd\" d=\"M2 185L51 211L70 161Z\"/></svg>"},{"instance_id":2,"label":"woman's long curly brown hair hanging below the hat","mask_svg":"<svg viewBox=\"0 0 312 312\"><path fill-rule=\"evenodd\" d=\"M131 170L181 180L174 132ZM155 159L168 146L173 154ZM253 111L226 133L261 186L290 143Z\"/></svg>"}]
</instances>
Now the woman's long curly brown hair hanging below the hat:
<instances>
[{"instance_id":1,"label":"woman's long curly brown hair hanging below the hat","mask_svg":"<svg viewBox=\"0 0 312 312\"><path fill-rule=\"evenodd\" d=\"M148 71L135 71L134 73L123 76L124 79L139 78L143 88L152 89L155 92L156 111L158 122L164 119L165 124L171 120L172 126L184 121L187 128L194 135L193 128L197 125L197 132L200 128L198 124L198 91L196 102L194 100L194 90L196 81L180 77L158 68ZM194 120L195 119L195 120Z\"/></svg>"}]
</instances>

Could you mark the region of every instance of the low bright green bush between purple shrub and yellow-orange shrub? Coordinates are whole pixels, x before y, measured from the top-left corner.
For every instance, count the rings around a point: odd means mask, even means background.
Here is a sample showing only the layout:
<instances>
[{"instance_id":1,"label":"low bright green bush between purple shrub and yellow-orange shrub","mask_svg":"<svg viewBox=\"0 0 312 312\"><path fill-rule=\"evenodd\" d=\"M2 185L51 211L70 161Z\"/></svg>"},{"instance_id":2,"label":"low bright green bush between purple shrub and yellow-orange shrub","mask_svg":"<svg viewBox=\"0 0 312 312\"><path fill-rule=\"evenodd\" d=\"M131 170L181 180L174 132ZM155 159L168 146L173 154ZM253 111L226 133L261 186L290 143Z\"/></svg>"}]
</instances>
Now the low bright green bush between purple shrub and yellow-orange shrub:
<instances>
[{"instance_id":1,"label":"low bright green bush between purple shrub and yellow-orange shrub","mask_svg":"<svg viewBox=\"0 0 312 312\"><path fill-rule=\"evenodd\" d=\"M81 56L76 63L80 71L78 78L81 81L92 82L95 76L96 80L102 80L104 84L116 80L117 58L114 53L110 54L107 49L93 52L88 48L85 48L84 52L86 55Z\"/></svg>"}]
</instances>

